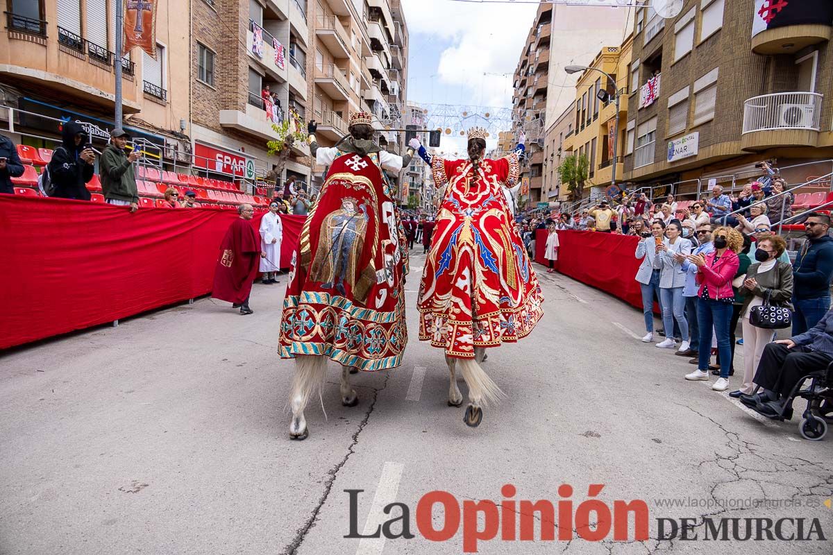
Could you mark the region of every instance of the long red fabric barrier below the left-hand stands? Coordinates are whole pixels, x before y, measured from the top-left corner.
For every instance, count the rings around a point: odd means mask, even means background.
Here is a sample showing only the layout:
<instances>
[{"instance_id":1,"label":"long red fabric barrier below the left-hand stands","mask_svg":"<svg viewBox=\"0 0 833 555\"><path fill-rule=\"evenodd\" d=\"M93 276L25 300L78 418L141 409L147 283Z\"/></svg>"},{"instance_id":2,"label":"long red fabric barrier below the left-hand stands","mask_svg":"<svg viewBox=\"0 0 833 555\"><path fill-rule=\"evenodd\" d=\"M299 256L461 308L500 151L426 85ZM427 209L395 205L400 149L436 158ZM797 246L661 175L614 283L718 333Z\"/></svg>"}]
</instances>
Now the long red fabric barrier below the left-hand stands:
<instances>
[{"instance_id":1,"label":"long red fabric barrier below the left-hand stands","mask_svg":"<svg viewBox=\"0 0 833 555\"><path fill-rule=\"evenodd\" d=\"M236 217L0 195L0 349L209 293ZM282 266L304 219L282 216Z\"/></svg>"}]
</instances>

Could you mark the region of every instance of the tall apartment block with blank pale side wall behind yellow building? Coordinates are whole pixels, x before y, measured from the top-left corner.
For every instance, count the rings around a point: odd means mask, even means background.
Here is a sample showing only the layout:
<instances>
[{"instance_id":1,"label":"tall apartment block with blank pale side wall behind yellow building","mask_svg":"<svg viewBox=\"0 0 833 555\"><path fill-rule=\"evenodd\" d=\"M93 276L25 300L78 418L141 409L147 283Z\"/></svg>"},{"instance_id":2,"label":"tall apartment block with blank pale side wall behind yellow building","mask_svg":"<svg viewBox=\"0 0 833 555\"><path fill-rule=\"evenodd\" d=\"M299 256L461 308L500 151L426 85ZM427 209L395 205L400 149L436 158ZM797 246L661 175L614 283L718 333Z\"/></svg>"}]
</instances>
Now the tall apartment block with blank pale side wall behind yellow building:
<instances>
[{"instance_id":1,"label":"tall apartment block with blank pale side wall behind yellow building","mask_svg":"<svg viewBox=\"0 0 833 555\"><path fill-rule=\"evenodd\" d=\"M530 156L521 167L521 179L526 177L530 183L529 197L522 200L526 206L546 201L542 194L546 129L573 102L578 78L566 74L564 67L586 64L588 52L619 44L630 27L628 14L620 7L543 2L538 7L515 70L513 126L507 140L514 140L521 129L526 132Z\"/></svg>"}]
</instances>

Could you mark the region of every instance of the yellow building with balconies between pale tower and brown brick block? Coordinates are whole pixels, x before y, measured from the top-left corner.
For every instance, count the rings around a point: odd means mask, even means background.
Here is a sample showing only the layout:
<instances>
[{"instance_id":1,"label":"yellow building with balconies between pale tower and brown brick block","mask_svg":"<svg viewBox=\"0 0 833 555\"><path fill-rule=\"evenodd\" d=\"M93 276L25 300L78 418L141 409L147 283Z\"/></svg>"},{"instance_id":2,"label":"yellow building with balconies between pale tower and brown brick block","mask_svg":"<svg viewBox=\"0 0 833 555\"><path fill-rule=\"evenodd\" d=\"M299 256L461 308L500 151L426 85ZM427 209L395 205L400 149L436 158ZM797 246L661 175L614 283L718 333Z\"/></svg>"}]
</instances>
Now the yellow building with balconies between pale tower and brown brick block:
<instances>
[{"instance_id":1,"label":"yellow building with balconies between pale tower and brown brick block","mask_svg":"<svg viewBox=\"0 0 833 555\"><path fill-rule=\"evenodd\" d=\"M564 150L576 156L586 156L589 161L588 180L585 189L601 192L611 185L613 163L616 159L616 181L624 177L621 153L625 147L627 104L630 91L627 90L628 66L631 63L632 35L620 47L603 47L588 69L576 82L576 113L574 132L564 141ZM595 71L598 70L598 71ZM605 72L616 80L619 88L619 136L616 141L616 156L613 152L616 131L616 104L612 97L614 87ZM609 102L599 99L599 92L611 95ZM587 196L586 194L582 196Z\"/></svg>"}]
</instances>

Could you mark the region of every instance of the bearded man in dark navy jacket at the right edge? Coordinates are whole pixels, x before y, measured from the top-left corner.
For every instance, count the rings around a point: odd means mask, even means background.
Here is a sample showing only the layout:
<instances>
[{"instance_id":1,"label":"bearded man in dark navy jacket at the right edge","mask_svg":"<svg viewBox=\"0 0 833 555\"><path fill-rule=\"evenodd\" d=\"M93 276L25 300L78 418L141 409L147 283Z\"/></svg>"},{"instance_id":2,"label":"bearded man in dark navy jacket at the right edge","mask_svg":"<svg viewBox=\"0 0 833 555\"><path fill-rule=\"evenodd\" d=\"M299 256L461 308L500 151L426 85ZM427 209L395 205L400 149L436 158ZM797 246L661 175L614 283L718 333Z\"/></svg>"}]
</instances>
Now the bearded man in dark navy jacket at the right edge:
<instances>
[{"instance_id":1,"label":"bearded man in dark navy jacket at the right edge","mask_svg":"<svg viewBox=\"0 0 833 555\"><path fill-rule=\"evenodd\" d=\"M827 235L830 216L811 212L804 222L807 240L793 264L792 305L796 308L792 334L803 334L819 323L831 307L833 238Z\"/></svg>"}]
</instances>

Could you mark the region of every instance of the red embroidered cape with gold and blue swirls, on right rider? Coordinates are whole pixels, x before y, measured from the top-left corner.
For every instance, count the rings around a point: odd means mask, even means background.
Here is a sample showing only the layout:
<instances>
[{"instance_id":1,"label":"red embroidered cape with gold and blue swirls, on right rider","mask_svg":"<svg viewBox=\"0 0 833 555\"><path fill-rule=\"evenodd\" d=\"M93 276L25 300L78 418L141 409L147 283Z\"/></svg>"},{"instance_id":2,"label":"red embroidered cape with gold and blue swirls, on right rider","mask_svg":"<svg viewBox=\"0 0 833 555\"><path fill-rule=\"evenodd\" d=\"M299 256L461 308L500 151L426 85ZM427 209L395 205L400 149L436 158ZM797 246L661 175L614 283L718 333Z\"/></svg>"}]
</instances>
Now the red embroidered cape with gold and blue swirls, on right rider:
<instances>
[{"instance_id":1,"label":"red embroidered cape with gold and blue swirls, on right rider","mask_svg":"<svg viewBox=\"0 0 833 555\"><path fill-rule=\"evenodd\" d=\"M471 358L475 347L515 342L541 320L541 287L501 187L514 186L510 154L471 161L434 156L436 187L448 184L420 285L419 339Z\"/></svg>"}]
</instances>

